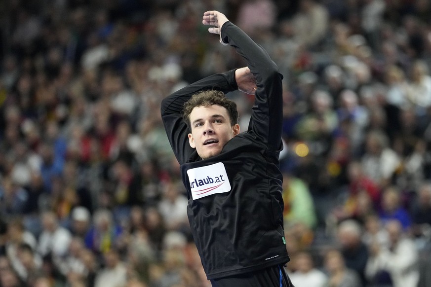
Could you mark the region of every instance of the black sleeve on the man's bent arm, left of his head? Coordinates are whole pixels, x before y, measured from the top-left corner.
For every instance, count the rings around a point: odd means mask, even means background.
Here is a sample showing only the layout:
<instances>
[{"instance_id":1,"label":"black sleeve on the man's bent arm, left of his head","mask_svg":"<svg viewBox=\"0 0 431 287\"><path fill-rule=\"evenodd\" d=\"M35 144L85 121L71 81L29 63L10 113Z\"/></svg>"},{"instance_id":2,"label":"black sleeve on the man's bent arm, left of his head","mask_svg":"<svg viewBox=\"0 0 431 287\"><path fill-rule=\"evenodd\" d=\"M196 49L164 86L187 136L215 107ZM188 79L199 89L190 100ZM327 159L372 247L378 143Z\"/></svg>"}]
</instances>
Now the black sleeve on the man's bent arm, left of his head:
<instances>
[{"instance_id":1,"label":"black sleeve on the man's bent arm, left of his head","mask_svg":"<svg viewBox=\"0 0 431 287\"><path fill-rule=\"evenodd\" d=\"M235 70L205 77L162 100L161 118L169 143L180 164L186 163L195 151L189 144L190 130L182 117L183 105L197 92L211 89L225 94L236 90Z\"/></svg>"}]
</instances>

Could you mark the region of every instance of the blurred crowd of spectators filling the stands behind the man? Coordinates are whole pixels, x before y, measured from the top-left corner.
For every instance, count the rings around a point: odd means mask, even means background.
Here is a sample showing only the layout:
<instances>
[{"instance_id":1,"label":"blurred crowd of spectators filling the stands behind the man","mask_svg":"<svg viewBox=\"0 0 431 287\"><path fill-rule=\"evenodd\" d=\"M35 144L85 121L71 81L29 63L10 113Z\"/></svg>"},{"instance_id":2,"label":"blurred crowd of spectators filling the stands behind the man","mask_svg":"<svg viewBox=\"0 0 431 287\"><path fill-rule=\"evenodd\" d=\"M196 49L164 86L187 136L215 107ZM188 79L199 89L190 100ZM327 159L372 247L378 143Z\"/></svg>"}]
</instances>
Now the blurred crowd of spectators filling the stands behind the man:
<instances>
[{"instance_id":1,"label":"blurred crowd of spectators filling the stands behind the man","mask_svg":"<svg viewBox=\"0 0 431 287\"><path fill-rule=\"evenodd\" d=\"M283 74L295 286L431 286L428 0L0 5L0 287L209 287L160 101L242 67L219 10ZM253 98L239 91L241 130Z\"/></svg>"}]
</instances>

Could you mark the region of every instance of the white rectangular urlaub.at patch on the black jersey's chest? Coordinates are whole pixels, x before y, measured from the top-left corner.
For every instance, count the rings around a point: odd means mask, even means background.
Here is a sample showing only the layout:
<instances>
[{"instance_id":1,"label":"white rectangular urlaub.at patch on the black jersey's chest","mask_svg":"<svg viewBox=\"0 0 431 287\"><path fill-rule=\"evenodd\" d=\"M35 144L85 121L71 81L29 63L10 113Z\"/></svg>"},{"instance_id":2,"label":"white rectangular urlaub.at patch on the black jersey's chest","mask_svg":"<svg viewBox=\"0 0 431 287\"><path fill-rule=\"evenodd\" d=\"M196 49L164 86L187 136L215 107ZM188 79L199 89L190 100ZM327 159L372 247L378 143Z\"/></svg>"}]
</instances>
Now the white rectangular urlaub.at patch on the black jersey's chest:
<instances>
[{"instance_id":1,"label":"white rectangular urlaub.at patch on the black jersey's chest","mask_svg":"<svg viewBox=\"0 0 431 287\"><path fill-rule=\"evenodd\" d=\"M231 191L231 183L221 162L187 171L193 200Z\"/></svg>"}]
</instances>

